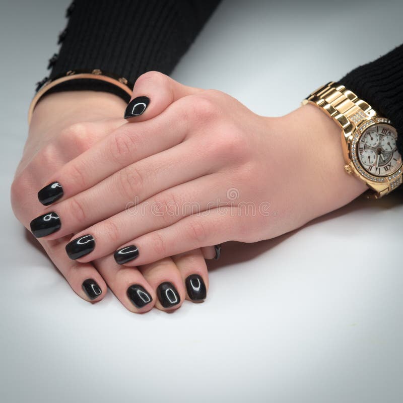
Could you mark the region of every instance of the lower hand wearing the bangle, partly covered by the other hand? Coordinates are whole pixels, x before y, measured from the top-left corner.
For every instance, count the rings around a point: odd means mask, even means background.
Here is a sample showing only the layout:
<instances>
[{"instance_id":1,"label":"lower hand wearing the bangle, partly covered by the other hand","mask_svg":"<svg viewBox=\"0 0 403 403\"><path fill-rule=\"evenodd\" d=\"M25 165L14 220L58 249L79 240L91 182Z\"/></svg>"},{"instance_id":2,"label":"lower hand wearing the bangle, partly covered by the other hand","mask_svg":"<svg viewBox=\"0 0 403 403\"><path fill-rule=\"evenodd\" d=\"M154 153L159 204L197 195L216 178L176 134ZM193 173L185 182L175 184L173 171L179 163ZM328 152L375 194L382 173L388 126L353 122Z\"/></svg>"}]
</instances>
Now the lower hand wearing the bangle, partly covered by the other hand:
<instances>
[{"instance_id":1,"label":"lower hand wearing the bangle, partly covered by the other hand","mask_svg":"<svg viewBox=\"0 0 403 403\"><path fill-rule=\"evenodd\" d=\"M108 93L61 92L41 100L35 108L12 185L13 210L25 227L29 228L32 216L43 209L37 191L49 173L126 123L120 117L124 108L122 100ZM139 269L124 268L112 255L93 264L69 259L65 245L71 237L68 234L53 241L39 241L73 290L87 301L102 299L106 285L133 312L146 312L154 305L163 310L176 309L185 297L193 300L205 297L207 267L199 249ZM206 285L204 289L202 283Z\"/></svg>"}]
</instances>

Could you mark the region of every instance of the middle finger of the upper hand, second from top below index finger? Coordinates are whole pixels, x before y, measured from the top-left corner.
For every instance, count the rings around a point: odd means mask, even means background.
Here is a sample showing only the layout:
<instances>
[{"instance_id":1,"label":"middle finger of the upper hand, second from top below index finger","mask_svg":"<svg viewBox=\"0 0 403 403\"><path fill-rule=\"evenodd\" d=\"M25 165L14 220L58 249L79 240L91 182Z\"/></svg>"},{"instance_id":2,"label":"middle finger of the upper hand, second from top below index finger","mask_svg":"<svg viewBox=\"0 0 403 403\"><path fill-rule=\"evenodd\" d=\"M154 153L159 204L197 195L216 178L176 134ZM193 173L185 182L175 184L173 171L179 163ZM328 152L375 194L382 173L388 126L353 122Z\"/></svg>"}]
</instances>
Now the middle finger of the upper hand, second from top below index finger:
<instances>
[{"instance_id":1,"label":"middle finger of the upper hand, second from top below index finger","mask_svg":"<svg viewBox=\"0 0 403 403\"><path fill-rule=\"evenodd\" d=\"M208 150L198 151L194 140L185 143L131 164L90 189L52 206L51 210L60 217L63 226L46 239L82 231L139 205L154 194L202 177L221 166L222 162Z\"/></svg>"}]
</instances>

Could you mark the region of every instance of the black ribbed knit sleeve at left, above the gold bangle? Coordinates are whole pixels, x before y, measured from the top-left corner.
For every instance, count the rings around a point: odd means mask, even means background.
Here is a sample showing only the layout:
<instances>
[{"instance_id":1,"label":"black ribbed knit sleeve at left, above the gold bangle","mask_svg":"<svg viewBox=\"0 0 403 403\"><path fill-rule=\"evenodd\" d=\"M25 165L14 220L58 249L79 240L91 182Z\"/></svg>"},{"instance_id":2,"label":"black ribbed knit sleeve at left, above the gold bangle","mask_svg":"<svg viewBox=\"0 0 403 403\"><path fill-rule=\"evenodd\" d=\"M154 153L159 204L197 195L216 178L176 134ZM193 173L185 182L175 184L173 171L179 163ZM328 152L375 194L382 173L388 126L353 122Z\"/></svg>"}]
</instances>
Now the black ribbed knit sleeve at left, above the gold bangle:
<instances>
[{"instance_id":1,"label":"black ribbed knit sleeve at left, above the gold bangle","mask_svg":"<svg viewBox=\"0 0 403 403\"><path fill-rule=\"evenodd\" d=\"M219 2L75 0L67 11L68 25L59 35L59 54L49 60L50 78L69 70L93 69L129 82L150 70L169 75ZM56 88L113 92L113 87L93 80Z\"/></svg>"}]
</instances>

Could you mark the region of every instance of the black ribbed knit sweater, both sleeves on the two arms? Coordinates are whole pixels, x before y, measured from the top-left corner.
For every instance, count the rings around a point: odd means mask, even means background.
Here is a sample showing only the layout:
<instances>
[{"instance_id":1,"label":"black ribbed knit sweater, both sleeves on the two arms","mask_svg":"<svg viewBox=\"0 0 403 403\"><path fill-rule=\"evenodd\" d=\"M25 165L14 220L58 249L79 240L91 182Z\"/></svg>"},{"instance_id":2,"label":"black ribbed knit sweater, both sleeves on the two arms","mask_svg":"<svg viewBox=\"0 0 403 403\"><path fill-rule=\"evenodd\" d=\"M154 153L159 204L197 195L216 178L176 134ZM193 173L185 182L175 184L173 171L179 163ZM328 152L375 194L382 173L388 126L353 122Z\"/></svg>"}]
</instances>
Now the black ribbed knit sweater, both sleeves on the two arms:
<instances>
[{"instance_id":1,"label":"black ribbed knit sweater, both sleeves on the two arms","mask_svg":"<svg viewBox=\"0 0 403 403\"><path fill-rule=\"evenodd\" d=\"M170 74L220 0L75 0L59 35L50 78L69 70L101 69L136 81L156 70ZM396 127L403 155L403 45L339 80ZM331 78L329 78L329 81ZM57 87L56 87L57 88ZM114 92L102 82L68 82L60 90ZM120 93L117 93L124 98ZM304 94L305 95L305 94ZM126 99L127 100L127 99Z\"/></svg>"}]
</instances>

